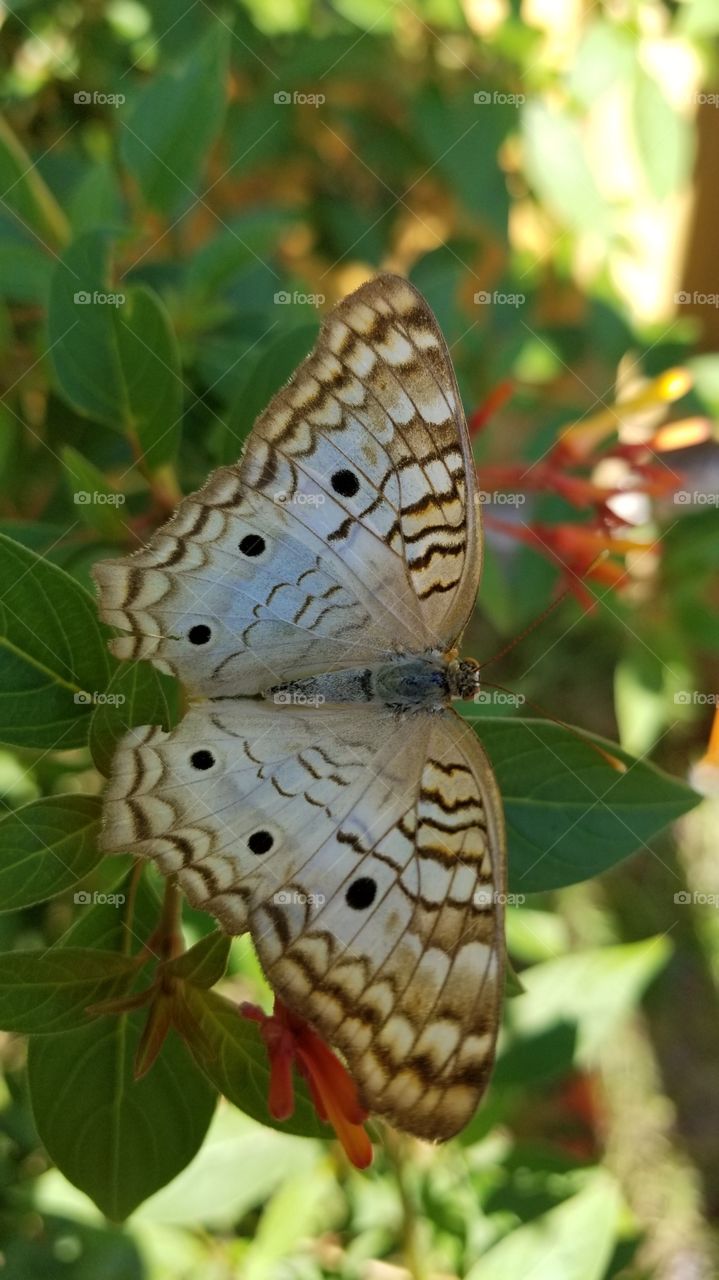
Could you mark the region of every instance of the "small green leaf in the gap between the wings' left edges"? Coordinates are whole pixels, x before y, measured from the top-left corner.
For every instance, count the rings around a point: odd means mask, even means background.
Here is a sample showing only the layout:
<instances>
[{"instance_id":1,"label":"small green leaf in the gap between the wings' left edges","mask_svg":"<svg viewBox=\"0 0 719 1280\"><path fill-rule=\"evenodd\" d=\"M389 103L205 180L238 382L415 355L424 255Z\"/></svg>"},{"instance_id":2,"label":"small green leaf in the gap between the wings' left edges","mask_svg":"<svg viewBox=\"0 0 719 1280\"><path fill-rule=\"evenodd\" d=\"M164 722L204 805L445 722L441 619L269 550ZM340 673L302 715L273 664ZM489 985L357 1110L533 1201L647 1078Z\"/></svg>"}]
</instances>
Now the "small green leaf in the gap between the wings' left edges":
<instances>
[{"instance_id":1,"label":"small green leaf in the gap between the wings' left edges","mask_svg":"<svg viewBox=\"0 0 719 1280\"><path fill-rule=\"evenodd\" d=\"M179 685L148 662L123 662L96 701L90 722L90 750L95 765L109 777L119 740L137 724L170 730L178 719Z\"/></svg>"}]
</instances>

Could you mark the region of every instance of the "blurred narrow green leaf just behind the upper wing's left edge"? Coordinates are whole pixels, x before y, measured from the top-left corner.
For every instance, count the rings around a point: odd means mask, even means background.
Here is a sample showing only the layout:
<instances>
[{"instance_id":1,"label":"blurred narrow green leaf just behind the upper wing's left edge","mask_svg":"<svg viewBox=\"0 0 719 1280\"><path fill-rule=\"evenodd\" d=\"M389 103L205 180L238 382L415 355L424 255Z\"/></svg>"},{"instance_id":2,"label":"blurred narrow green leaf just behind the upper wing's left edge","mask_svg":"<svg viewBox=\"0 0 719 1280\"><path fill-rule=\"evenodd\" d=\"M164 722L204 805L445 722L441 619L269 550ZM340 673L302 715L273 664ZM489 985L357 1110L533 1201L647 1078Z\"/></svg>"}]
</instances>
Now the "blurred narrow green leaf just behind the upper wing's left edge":
<instances>
[{"instance_id":1,"label":"blurred narrow green leaf just behind the upper wing's left edge","mask_svg":"<svg viewBox=\"0 0 719 1280\"><path fill-rule=\"evenodd\" d=\"M298 325L269 343L253 362L247 361L244 385L229 408L220 435L221 463L237 461L255 419L267 407L275 392L284 387L299 361L312 349L316 338L316 325Z\"/></svg>"}]
</instances>

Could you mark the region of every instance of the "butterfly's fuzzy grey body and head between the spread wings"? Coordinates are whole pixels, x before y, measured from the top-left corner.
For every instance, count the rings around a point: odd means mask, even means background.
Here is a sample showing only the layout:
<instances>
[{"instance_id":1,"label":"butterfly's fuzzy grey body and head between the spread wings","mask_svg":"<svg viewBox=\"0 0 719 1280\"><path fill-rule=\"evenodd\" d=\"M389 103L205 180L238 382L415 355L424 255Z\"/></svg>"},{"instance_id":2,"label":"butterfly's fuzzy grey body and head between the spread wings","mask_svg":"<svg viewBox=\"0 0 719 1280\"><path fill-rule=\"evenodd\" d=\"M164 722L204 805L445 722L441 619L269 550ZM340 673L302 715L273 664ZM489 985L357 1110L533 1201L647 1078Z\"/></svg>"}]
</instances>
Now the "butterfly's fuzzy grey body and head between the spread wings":
<instances>
[{"instance_id":1,"label":"butterfly's fuzzy grey body and head between the spread wings","mask_svg":"<svg viewBox=\"0 0 719 1280\"><path fill-rule=\"evenodd\" d=\"M441 653L398 655L389 662L331 671L267 690L273 701L321 707L325 703L384 703L402 709L445 707L452 698L473 698L480 668L472 659L448 660Z\"/></svg>"}]
</instances>

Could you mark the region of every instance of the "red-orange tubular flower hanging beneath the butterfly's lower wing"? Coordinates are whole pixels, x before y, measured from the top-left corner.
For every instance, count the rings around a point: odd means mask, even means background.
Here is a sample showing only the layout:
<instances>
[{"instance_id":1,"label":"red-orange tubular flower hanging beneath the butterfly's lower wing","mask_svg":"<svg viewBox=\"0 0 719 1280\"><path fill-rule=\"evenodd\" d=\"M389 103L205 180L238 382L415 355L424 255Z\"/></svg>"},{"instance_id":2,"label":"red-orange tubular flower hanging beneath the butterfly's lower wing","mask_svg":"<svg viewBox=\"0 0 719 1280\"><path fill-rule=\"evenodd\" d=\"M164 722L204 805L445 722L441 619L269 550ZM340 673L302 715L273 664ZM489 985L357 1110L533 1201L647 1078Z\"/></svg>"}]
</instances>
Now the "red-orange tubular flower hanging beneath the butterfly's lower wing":
<instances>
[{"instance_id":1,"label":"red-orange tubular flower hanging beneath the butterfly's lower wing","mask_svg":"<svg viewBox=\"0 0 719 1280\"><path fill-rule=\"evenodd\" d=\"M273 1014L257 1005L241 1005L241 1014L260 1024L270 1059L270 1115L288 1120L294 1111L292 1068L307 1080L320 1120L336 1133L348 1160L366 1169L372 1160L372 1143L362 1128L367 1112L360 1106L357 1085L338 1057L297 1014L275 996Z\"/></svg>"}]
</instances>

